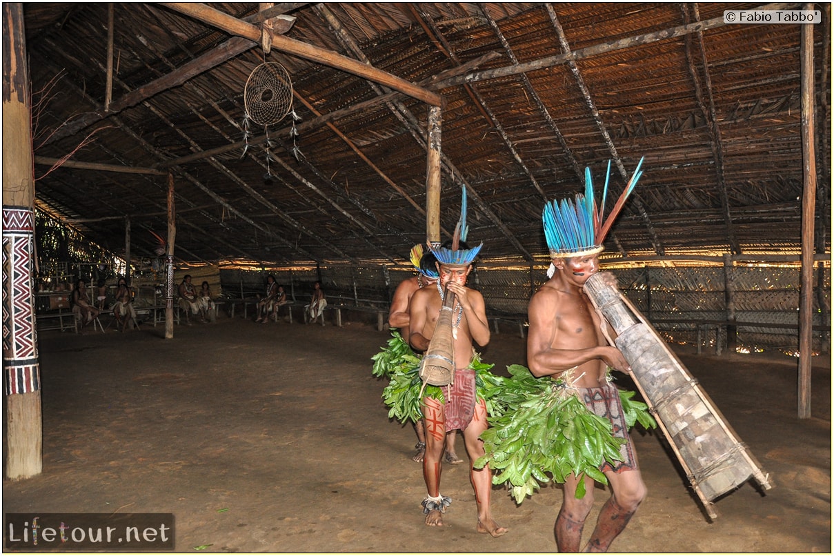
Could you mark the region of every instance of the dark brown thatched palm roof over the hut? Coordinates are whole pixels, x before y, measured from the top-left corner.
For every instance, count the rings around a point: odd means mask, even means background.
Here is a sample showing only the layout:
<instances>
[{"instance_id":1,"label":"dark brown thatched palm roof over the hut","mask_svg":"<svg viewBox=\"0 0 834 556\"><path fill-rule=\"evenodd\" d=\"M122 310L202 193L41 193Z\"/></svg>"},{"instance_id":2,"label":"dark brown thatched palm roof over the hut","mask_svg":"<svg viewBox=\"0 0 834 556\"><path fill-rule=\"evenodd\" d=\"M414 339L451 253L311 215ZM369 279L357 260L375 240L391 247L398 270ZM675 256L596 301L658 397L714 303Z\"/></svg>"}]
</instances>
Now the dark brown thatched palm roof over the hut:
<instances>
[{"instance_id":1,"label":"dark brown thatched palm roof over the hut","mask_svg":"<svg viewBox=\"0 0 834 556\"><path fill-rule=\"evenodd\" d=\"M470 243L484 241L484 258L546 258L545 199L579 192L585 166L600 192L610 160L610 208L644 156L608 253L799 251L801 26L731 25L723 13L805 4L284 3L269 13L286 15L264 55L181 8L117 3L107 112L108 6L27 3L24 14L37 206L114 252L128 217L132 254L154 256L171 171L177 258L402 261L426 237L425 98L438 95L441 228L455 228L465 185ZM259 24L258 3L210 8ZM831 13L816 8L826 250ZM413 86L398 92L282 52L280 38ZM244 86L264 60L289 73L299 134L292 114L249 123L243 156Z\"/></svg>"}]
</instances>

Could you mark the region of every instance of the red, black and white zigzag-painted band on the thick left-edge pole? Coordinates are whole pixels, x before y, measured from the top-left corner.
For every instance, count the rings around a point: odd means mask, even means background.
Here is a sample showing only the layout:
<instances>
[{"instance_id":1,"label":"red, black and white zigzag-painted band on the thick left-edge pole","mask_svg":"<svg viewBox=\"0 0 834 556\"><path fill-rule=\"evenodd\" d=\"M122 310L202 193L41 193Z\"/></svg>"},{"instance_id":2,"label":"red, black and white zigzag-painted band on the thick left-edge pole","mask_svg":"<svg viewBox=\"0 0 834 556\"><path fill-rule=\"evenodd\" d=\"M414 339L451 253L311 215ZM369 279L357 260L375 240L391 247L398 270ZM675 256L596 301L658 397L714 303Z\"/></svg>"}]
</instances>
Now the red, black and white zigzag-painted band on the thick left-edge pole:
<instances>
[{"instance_id":1,"label":"red, black and white zigzag-painted band on the thick left-edge pole","mask_svg":"<svg viewBox=\"0 0 834 556\"><path fill-rule=\"evenodd\" d=\"M40 389L32 262L34 212L3 207L3 374L5 392Z\"/></svg>"}]
</instances>

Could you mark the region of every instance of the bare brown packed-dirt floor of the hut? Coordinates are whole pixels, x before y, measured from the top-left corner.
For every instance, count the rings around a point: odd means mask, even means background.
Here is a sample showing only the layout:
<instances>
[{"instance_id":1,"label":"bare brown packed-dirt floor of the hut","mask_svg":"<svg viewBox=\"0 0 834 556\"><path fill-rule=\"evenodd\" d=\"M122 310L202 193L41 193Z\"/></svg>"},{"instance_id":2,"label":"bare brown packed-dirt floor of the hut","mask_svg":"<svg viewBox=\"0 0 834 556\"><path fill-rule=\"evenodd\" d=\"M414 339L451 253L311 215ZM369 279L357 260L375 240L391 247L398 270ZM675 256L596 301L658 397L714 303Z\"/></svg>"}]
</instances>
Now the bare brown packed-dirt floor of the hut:
<instances>
[{"instance_id":1,"label":"bare brown packed-dirt floor of the hut","mask_svg":"<svg viewBox=\"0 0 834 556\"><path fill-rule=\"evenodd\" d=\"M389 421L370 373L387 332L221 317L174 334L40 335L43 473L4 480L4 513L173 513L176 552L556 551L560 488L517 506L495 487L510 532L490 538L466 463L444 468L445 527L425 527L414 431ZM483 353L496 373L525 363L509 330ZM677 353L774 488L751 480L710 520L662 434L634 433L649 495L611 551L831 553L830 358L815 358L799 419L795 359Z\"/></svg>"}]
</instances>

